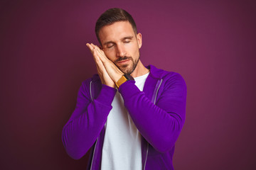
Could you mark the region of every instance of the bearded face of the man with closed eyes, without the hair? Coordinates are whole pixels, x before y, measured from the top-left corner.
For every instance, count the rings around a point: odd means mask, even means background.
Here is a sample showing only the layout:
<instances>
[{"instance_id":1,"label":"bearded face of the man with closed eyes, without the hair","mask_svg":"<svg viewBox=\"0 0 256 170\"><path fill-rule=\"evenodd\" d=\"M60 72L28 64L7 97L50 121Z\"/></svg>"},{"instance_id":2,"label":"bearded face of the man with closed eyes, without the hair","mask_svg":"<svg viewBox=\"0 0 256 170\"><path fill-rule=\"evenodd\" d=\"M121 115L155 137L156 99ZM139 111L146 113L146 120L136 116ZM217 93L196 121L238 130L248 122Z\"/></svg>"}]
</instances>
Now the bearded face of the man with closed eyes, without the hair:
<instances>
[{"instance_id":1,"label":"bearded face of the man with closed eyes, without the hair","mask_svg":"<svg viewBox=\"0 0 256 170\"><path fill-rule=\"evenodd\" d=\"M139 62L142 34L135 35L128 21L119 21L102 27L99 38L107 58L125 74L132 74Z\"/></svg>"}]
</instances>

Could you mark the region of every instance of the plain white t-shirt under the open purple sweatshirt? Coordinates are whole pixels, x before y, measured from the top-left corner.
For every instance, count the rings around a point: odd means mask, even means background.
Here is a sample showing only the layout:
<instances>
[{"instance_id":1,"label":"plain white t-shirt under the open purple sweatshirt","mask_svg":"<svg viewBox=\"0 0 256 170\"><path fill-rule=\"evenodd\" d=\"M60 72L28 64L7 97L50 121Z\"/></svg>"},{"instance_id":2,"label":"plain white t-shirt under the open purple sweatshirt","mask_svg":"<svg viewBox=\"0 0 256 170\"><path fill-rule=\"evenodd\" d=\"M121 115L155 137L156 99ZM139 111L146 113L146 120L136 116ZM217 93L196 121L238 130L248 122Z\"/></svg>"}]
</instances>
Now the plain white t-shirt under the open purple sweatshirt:
<instances>
[{"instance_id":1,"label":"plain white t-shirt under the open purple sweatshirt","mask_svg":"<svg viewBox=\"0 0 256 170\"><path fill-rule=\"evenodd\" d=\"M146 77L135 77L135 85L143 90ZM107 117L102 148L102 170L142 170L141 135L134 125L124 101L118 92L112 101L112 110Z\"/></svg>"}]
</instances>

